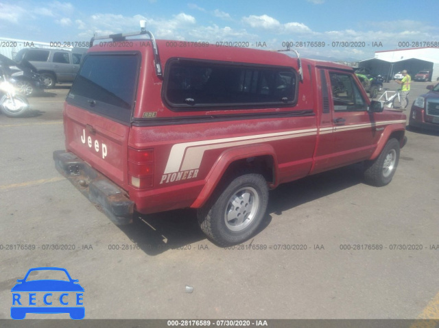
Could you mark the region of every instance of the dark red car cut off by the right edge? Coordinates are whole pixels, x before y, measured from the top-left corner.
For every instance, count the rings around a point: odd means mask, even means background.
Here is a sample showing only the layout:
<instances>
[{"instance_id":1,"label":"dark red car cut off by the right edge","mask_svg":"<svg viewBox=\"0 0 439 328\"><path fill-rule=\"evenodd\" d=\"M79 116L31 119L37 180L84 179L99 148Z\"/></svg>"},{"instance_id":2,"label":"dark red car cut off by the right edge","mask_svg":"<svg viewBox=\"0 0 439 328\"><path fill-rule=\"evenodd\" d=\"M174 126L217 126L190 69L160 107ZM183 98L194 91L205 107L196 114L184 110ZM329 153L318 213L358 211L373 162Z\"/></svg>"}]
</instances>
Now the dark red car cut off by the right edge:
<instances>
[{"instance_id":1,"label":"dark red car cut off by the right edge","mask_svg":"<svg viewBox=\"0 0 439 328\"><path fill-rule=\"evenodd\" d=\"M412 105L409 126L439 131L439 84L427 89L429 92L421 94Z\"/></svg>"}]
</instances>

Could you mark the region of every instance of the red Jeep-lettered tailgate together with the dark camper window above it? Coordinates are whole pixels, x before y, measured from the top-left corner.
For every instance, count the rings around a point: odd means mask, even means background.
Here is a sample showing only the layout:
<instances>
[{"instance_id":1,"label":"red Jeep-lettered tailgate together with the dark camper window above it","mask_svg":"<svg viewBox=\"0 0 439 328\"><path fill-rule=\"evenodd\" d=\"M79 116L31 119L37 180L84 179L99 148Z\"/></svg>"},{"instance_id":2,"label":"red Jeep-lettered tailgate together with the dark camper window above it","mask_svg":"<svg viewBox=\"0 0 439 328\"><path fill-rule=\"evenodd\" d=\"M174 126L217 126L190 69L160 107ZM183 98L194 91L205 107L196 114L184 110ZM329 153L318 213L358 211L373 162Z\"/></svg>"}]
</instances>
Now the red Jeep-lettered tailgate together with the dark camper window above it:
<instances>
[{"instance_id":1,"label":"red Jeep-lettered tailgate together with the dark camper window above it","mask_svg":"<svg viewBox=\"0 0 439 328\"><path fill-rule=\"evenodd\" d=\"M64 104L67 151L125 190L140 59L133 51L88 53Z\"/></svg>"}]
</instances>

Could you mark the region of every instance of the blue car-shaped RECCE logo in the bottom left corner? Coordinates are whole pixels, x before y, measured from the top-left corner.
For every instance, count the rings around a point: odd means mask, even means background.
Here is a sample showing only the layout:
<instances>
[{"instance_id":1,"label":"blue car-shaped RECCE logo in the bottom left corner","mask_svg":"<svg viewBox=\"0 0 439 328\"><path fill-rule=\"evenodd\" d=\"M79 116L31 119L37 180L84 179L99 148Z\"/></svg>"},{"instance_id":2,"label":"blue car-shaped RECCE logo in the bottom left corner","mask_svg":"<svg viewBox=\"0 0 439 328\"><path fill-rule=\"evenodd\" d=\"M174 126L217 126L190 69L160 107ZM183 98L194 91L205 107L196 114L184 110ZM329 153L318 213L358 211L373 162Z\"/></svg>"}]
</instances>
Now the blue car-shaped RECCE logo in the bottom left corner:
<instances>
[{"instance_id":1,"label":"blue car-shaped RECCE logo in the bottom left corner","mask_svg":"<svg viewBox=\"0 0 439 328\"><path fill-rule=\"evenodd\" d=\"M26 281L27 277L29 277L29 274L32 273L32 271L43 270L62 271L67 275L69 281L56 279ZM69 292L71 292L72 294L76 294L75 304L83 305L82 292L84 292L84 288L82 288L82 286L78 283L78 279L71 279L66 269L54 267L31 268L29 269L29 271L27 271L25 277L23 279L18 279L17 282L18 283L11 289L11 292L13 293L13 306L11 307L12 319L24 319L27 313L68 313L70 315L70 318L75 320L80 320L84 318L84 306L36 306L36 303L33 302L35 301L33 297L36 294L29 294L29 306L14 306L16 304L21 305L21 292L47 292L43 297L45 305L51 305L52 303L48 301L49 297L52 296L51 292L66 292L60 295L59 300L62 305L69 305L69 302L64 301L64 298L68 297ZM24 298L23 303L25 303ZM70 301L70 303L72 302Z\"/></svg>"}]
</instances>

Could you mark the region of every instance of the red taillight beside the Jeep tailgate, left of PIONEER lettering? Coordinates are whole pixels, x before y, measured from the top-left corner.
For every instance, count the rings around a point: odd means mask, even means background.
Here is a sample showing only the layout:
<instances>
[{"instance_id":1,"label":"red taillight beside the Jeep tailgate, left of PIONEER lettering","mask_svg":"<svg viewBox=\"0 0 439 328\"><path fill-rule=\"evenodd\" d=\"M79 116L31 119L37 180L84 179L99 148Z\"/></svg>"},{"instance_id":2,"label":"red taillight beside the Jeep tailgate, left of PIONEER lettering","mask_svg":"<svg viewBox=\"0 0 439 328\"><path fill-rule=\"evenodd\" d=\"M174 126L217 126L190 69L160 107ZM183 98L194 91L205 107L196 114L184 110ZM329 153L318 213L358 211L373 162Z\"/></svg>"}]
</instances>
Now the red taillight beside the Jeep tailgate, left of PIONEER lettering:
<instances>
[{"instance_id":1,"label":"red taillight beside the Jeep tailgate, left of PIONEER lettering","mask_svg":"<svg viewBox=\"0 0 439 328\"><path fill-rule=\"evenodd\" d=\"M153 186L154 149L128 148L128 181L134 188Z\"/></svg>"}]
</instances>

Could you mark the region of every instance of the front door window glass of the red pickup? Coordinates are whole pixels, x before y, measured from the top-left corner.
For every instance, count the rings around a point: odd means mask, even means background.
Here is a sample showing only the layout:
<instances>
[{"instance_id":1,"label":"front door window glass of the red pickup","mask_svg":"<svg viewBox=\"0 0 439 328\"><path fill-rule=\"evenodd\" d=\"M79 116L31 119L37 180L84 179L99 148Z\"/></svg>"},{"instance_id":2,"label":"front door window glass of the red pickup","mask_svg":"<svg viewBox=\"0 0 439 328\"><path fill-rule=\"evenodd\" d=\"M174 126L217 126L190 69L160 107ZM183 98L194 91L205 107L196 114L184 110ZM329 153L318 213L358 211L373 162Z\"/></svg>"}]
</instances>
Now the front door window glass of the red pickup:
<instances>
[{"instance_id":1,"label":"front door window glass of the red pickup","mask_svg":"<svg viewBox=\"0 0 439 328\"><path fill-rule=\"evenodd\" d=\"M335 112L359 112L367 109L358 86L351 75L329 73Z\"/></svg>"}]
</instances>

